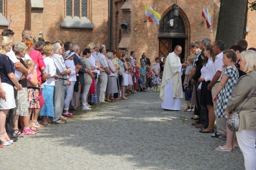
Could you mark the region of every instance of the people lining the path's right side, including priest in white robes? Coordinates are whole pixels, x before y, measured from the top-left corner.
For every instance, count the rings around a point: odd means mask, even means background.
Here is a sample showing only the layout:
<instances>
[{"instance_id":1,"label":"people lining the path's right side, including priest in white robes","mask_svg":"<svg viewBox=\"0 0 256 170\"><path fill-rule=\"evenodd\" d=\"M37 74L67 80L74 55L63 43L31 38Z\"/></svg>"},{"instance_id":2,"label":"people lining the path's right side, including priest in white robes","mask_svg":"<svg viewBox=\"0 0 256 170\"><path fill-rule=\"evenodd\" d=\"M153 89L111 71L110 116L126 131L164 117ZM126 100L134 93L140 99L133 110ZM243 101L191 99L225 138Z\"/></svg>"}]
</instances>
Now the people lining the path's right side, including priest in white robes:
<instances>
[{"instance_id":1,"label":"people lining the path's right side, including priest in white robes","mask_svg":"<svg viewBox=\"0 0 256 170\"><path fill-rule=\"evenodd\" d=\"M191 119L196 122L192 125L201 133L212 133L211 137L226 140L224 146L215 148L217 151L231 152L239 146L245 169L256 170L256 49L247 49L247 45L246 40L240 39L226 49L221 40L212 45L209 38L203 38L191 43L195 57L187 57L183 64L179 60L182 48L176 46L166 58L160 98L165 110L180 110L183 98L180 78L182 67L186 69L184 111L194 112ZM227 119L235 110L239 110L240 118L236 133L227 126Z\"/></svg>"}]
</instances>

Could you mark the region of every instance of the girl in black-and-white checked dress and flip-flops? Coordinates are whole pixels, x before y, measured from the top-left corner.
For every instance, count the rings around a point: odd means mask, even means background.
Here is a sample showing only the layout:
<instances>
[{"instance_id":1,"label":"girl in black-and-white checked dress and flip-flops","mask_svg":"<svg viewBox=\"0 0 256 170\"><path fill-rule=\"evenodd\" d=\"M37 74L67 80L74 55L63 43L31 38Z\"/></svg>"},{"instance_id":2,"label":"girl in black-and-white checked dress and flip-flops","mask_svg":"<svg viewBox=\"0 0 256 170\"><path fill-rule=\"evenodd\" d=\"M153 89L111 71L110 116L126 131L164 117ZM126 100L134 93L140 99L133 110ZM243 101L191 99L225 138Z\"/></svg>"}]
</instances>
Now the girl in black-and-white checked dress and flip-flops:
<instances>
[{"instance_id":1,"label":"girl in black-and-white checked dress and flip-flops","mask_svg":"<svg viewBox=\"0 0 256 170\"><path fill-rule=\"evenodd\" d=\"M217 117L224 117L227 122L226 105L231 98L232 91L239 79L239 73L235 66L236 53L230 49L223 51L222 77L219 85L214 93L212 101L217 104ZM215 150L219 151L232 151L235 150L235 135L234 132L226 126L226 144L219 146Z\"/></svg>"}]
</instances>

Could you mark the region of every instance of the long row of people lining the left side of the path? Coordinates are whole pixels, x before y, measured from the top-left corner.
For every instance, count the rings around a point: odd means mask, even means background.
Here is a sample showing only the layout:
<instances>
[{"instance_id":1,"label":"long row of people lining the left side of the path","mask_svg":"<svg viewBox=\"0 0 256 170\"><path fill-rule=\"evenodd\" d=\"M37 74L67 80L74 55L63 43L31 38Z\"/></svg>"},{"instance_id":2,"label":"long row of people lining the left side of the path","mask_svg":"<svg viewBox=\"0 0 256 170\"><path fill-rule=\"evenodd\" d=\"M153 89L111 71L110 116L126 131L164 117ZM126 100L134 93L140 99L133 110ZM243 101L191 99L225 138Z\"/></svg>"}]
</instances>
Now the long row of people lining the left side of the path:
<instances>
[{"instance_id":1,"label":"long row of people lining the left side of the path","mask_svg":"<svg viewBox=\"0 0 256 170\"><path fill-rule=\"evenodd\" d=\"M91 110L137 93L140 68L134 51L128 57L125 50L96 43L82 50L69 41L33 37L27 29L21 42L14 44L14 36L11 29L0 35L0 147L43 126L66 123L80 104ZM146 55L141 63L150 66Z\"/></svg>"}]
</instances>

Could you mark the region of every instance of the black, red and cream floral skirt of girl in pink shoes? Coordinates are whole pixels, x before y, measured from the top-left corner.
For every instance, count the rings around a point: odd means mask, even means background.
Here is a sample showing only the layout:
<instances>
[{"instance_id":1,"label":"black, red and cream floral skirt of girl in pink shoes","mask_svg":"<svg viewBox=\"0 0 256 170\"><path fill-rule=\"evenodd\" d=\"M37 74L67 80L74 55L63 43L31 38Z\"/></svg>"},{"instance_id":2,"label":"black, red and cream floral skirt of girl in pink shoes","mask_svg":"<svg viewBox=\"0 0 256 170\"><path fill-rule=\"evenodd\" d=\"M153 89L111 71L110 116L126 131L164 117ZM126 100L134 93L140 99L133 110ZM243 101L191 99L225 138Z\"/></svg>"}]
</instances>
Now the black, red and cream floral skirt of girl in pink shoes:
<instances>
[{"instance_id":1,"label":"black, red and cream floral skirt of girl in pink shoes","mask_svg":"<svg viewBox=\"0 0 256 170\"><path fill-rule=\"evenodd\" d=\"M28 108L40 109L39 88L28 87Z\"/></svg>"}]
</instances>

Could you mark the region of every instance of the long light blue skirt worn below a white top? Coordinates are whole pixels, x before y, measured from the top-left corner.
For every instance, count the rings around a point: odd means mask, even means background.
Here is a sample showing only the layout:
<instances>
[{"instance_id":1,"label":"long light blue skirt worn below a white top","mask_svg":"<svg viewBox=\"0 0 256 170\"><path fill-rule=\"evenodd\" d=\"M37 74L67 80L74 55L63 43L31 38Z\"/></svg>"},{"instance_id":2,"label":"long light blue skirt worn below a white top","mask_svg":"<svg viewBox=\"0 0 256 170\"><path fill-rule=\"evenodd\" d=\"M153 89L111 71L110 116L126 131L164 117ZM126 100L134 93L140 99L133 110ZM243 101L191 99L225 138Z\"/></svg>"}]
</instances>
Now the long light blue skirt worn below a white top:
<instances>
[{"instance_id":1,"label":"long light blue skirt worn below a white top","mask_svg":"<svg viewBox=\"0 0 256 170\"><path fill-rule=\"evenodd\" d=\"M42 107L39 116L54 117L54 104L53 104L54 86L45 85L45 88L43 88L41 90L43 93L45 104Z\"/></svg>"}]
</instances>

